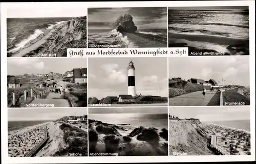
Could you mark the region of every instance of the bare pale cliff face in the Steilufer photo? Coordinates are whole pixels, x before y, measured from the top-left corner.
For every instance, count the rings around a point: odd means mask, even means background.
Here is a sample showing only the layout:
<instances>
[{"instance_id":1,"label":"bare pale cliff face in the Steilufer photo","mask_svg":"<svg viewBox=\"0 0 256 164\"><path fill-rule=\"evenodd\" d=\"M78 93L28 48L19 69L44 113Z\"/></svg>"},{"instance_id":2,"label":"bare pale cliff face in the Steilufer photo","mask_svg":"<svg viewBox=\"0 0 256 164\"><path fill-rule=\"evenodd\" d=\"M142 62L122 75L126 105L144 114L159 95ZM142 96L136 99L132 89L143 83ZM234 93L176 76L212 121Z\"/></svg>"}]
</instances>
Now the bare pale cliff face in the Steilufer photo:
<instances>
[{"instance_id":1,"label":"bare pale cliff face in the Steilufer photo","mask_svg":"<svg viewBox=\"0 0 256 164\"><path fill-rule=\"evenodd\" d=\"M209 135L198 119L169 119L169 155L211 155L207 147Z\"/></svg>"}]
</instances>

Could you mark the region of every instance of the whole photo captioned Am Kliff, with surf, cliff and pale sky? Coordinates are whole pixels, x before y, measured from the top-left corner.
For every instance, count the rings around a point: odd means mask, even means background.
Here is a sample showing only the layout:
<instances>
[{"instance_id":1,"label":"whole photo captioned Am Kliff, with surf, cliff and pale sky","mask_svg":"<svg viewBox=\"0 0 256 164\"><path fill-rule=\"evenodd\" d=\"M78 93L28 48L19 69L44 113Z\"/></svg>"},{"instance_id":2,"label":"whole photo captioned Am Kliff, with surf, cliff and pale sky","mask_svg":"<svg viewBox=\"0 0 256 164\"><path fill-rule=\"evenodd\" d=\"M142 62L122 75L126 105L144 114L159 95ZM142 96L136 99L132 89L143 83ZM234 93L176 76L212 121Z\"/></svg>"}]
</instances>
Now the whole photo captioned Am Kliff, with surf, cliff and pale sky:
<instances>
[{"instance_id":1,"label":"whole photo captioned Am Kliff, with surf, cliff and pale sky","mask_svg":"<svg viewBox=\"0 0 256 164\"><path fill-rule=\"evenodd\" d=\"M40 3L9 7L7 57L67 57L67 48L87 48L87 8L70 8Z\"/></svg>"}]
</instances>

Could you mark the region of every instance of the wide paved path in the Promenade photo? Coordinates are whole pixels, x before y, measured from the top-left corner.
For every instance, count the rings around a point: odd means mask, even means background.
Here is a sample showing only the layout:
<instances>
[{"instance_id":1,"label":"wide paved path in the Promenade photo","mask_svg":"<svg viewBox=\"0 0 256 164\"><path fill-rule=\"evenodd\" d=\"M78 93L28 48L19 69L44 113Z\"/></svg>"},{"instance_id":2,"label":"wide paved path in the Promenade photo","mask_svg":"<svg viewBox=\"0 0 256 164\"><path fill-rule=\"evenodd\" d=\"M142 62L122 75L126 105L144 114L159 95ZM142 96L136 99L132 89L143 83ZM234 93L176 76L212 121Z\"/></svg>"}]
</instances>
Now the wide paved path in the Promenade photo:
<instances>
[{"instance_id":1,"label":"wide paved path in the Promenade photo","mask_svg":"<svg viewBox=\"0 0 256 164\"><path fill-rule=\"evenodd\" d=\"M214 95L215 95L215 92L206 91L205 98L204 98L202 91L187 93L174 98L169 98L169 105L170 106L206 106Z\"/></svg>"}]
</instances>

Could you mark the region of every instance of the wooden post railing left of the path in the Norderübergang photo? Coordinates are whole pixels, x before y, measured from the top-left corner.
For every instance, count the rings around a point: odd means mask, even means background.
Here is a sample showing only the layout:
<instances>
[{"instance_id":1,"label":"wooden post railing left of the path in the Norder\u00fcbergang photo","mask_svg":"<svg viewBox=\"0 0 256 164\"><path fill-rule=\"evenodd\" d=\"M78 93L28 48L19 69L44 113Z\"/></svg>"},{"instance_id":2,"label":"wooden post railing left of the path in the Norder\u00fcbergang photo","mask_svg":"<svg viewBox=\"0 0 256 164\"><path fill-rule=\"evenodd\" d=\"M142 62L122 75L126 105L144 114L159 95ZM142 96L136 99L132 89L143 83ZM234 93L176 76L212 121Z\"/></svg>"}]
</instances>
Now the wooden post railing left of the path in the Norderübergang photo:
<instances>
[{"instance_id":1,"label":"wooden post railing left of the path in the Norder\u00fcbergang photo","mask_svg":"<svg viewBox=\"0 0 256 164\"><path fill-rule=\"evenodd\" d=\"M35 97L35 98L40 98L42 95L50 92L50 88L47 88L46 90L44 91L41 91L39 93L37 93L35 91L34 88L26 88L26 89L20 89L20 90L16 90L16 91L13 91L12 92L12 103L13 105L15 105L15 96L16 96L16 93L19 93L19 92L24 92L24 100L26 101L27 100L27 92L31 92L31 97Z\"/></svg>"}]
</instances>

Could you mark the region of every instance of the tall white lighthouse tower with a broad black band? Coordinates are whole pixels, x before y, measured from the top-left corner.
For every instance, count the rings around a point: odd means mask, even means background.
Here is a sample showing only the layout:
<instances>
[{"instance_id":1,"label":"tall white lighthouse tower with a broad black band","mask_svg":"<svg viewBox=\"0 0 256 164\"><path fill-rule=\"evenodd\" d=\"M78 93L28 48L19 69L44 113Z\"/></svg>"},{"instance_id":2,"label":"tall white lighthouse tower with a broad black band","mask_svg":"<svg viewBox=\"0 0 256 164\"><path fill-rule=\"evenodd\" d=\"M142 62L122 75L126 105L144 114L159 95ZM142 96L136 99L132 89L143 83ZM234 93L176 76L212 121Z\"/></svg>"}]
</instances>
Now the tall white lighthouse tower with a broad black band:
<instances>
[{"instance_id":1,"label":"tall white lighthouse tower with a broad black band","mask_svg":"<svg viewBox=\"0 0 256 164\"><path fill-rule=\"evenodd\" d=\"M128 95L136 96L135 91L135 67L131 61L128 66Z\"/></svg>"}]
</instances>

